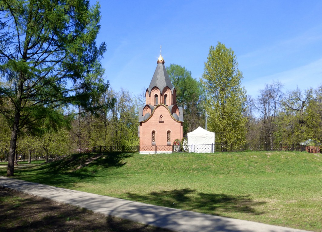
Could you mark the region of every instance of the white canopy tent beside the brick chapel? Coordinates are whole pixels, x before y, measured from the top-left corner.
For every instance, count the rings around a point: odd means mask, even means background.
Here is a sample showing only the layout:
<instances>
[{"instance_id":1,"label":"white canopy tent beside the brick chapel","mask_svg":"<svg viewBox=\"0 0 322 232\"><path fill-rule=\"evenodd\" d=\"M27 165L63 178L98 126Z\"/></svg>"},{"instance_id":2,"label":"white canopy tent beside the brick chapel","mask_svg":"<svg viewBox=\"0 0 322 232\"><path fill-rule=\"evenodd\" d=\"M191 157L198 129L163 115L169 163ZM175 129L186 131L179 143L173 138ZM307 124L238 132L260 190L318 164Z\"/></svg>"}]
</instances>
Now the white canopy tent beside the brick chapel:
<instances>
[{"instance_id":1,"label":"white canopy tent beside the brick chapel","mask_svg":"<svg viewBox=\"0 0 322 232\"><path fill-rule=\"evenodd\" d=\"M198 127L188 133L189 152L213 152L215 133Z\"/></svg>"}]
</instances>

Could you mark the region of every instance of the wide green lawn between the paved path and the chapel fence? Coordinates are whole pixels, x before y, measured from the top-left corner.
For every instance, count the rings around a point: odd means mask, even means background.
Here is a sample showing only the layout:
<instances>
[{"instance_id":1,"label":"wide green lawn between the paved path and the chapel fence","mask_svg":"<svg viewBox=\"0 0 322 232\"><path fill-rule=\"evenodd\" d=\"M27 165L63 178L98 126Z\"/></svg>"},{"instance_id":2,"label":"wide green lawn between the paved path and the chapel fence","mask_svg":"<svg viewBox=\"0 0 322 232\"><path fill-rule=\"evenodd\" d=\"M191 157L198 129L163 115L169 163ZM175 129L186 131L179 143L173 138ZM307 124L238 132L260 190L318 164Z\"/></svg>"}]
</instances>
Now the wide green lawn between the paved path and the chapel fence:
<instances>
[{"instance_id":1,"label":"wide green lawn between the paved path and the chapel fence","mask_svg":"<svg viewBox=\"0 0 322 232\"><path fill-rule=\"evenodd\" d=\"M15 167L15 178L322 231L322 154L263 151L98 155L75 154L45 165L21 165ZM1 175L5 171L0 167Z\"/></svg>"}]
</instances>

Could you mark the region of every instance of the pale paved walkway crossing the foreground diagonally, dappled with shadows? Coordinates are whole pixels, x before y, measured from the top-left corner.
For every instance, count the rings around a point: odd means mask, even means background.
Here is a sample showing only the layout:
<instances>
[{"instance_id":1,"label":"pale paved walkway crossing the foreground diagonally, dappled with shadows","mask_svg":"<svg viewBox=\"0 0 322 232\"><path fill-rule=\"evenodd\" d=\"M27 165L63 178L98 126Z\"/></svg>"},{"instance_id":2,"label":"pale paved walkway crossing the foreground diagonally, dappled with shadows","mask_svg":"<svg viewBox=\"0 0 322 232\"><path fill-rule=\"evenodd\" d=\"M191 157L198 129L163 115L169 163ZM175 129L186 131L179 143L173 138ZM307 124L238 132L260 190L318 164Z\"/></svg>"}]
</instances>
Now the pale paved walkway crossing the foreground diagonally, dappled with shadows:
<instances>
[{"instance_id":1,"label":"pale paved walkway crossing the foreground diagonally, dappled with shadows","mask_svg":"<svg viewBox=\"0 0 322 232\"><path fill-rule=\"evenodd\" d=\"M280 226L155 206L0 176L0 186L104 215L181 232L300 232Z\"/></svg>"}]
</instances>

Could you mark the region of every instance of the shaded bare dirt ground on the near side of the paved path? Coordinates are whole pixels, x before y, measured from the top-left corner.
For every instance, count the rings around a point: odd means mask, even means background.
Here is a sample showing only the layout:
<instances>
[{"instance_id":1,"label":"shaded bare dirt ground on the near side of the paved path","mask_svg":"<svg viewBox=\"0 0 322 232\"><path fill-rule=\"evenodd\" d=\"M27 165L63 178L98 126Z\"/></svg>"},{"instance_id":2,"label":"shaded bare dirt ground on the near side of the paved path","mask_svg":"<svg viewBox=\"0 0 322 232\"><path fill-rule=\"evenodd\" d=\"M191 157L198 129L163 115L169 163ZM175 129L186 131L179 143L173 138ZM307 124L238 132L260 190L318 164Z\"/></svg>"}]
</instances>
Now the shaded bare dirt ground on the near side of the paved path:
<instances>
[{"instance_id":1,"label":"shaded bare dirt ground on the near side of the paved path","mask_svg":"<svg viewBox=\"0 0 322 232\"><path fill-rule=\"evenodd\" d=\"M0 231L169 232L0 187Z\"/></svg>"}]
</instances>

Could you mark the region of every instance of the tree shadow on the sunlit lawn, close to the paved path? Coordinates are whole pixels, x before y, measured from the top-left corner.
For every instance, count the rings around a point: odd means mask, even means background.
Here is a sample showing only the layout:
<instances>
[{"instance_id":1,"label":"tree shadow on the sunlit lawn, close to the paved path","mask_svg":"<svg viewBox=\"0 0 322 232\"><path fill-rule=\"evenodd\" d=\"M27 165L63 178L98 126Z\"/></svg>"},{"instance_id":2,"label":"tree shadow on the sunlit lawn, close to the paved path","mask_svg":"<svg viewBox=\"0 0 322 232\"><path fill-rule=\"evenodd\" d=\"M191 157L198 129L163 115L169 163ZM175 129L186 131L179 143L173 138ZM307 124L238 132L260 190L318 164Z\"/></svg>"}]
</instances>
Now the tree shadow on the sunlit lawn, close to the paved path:
<instances>
[{"instance_id":1,"label":"tree shadow on the sunlit lawn, close to the paved path","mask_svg":"<svg viewBox=\"0 0 322 232\"><path fill-rule=\"evenodd\" d=\"M266 202L253 201L250 195L233 196L196 192L192 189L176 189L171 191L150 192L139 195L128 192L133 201L141 201L170 208L186 209L207 214L221 215L222 212L240 212L260 215L255 206Z\"/></svg>"}]
</instances>

